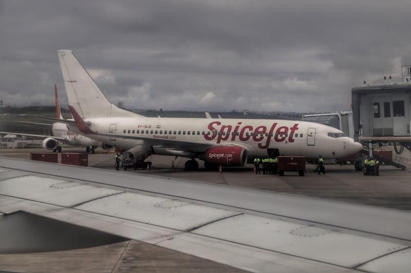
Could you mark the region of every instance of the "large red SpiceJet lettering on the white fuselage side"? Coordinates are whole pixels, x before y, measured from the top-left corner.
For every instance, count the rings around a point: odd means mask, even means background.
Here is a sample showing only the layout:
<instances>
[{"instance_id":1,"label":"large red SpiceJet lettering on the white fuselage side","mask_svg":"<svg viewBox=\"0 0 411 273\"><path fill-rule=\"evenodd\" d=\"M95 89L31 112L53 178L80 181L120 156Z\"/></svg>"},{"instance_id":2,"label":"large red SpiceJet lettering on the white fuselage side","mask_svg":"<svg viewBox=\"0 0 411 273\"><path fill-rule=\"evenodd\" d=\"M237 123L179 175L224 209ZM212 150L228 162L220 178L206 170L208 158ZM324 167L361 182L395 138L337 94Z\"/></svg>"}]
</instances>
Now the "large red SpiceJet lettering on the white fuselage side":
<instances>
[{"instance_id":1,"label":"large red SpiceJet lettering on the white fuselage side","mask_svg":"<svg viewBox=\"0 0 411 273\"><path fill-rule=\"evenodd\" d=\"M220 121L213 121L208 125L208 129L211 131L211 135L204 135L206 140L213 140L217 138L217 143L221 143L221 140L231 140L235 141L238 138L241 141L247 141L251 137L255 142L258 143L258 148L267 149L270 146L271 139L274 138L276 142L283 142L287 139L288 142L294 142L293 136L294 132L298 130L298 123L295 123L292 127L287 126L277 127L277 122L271 125L270 130L267 131L267 127L264 125L258 126L255 129L251 125L246 125L241 127L242 122L238 122L235 125L234 130L232 125L221 125ZM220 127L221 125L221 127ZM275 131L275 133L273 133ZM251 133L253 133L251 135ZM267 136L265 134L267 133ZM266 138L265 143L263 143L264 138Z\"/></svg>"}]
</instances>

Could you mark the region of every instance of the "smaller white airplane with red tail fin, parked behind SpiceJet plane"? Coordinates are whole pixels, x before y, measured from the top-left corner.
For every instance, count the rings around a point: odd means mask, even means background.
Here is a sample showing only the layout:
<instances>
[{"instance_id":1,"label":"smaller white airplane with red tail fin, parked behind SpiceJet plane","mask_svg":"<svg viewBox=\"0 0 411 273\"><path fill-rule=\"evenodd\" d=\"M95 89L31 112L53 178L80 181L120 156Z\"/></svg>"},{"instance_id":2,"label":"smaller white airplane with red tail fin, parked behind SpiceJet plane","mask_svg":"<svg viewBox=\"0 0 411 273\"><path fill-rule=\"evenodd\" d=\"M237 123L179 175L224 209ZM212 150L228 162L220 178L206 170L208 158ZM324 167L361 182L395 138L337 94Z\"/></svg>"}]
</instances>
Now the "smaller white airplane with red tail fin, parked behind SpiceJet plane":
<instances>
[{"instance_id":1,"label":"smaller white airplane with red tail fin, parked behind SpiceJet plane","mask_svg":"<svg viewBox=\"0 0 411 273\"><path fill-rule=\"evenodd\" d=\"M55 115L56 118L47 118L41 117L46 119L55 120L58 122L54 122L53 124L48 123L39 123L39 122L31 122L31 121L17 121L17 122L24 122L30 124L42 124L42 125L50 125L52 127L51 131L53 132L53 136L47 135L34 135L34 134L24 134L24 133L12 133L12 132L0 132L3 134L14 134L14 135L21 135L21 136L31 136L31 137L41 137L45 138L43 140L43 148L53 150L53 152L61 152L60 143L65 143L73 146L82 146L86 147L86 152L94 152L94 150L99 146L100 142L86 136L81 135L79 130L77 129L73 119L63 119L61 115L61 108L60 102L57 95L57 86L54 85L54 93L55 93ZM37 117L37 116L35 116ZM63 121L62 123L60 121ZM70 130L68 129L67 122L71 122L72 125L70 126ZM109 145L102 145L103 149L111 149L113 146Z\"/></svg>"}]
</instances>

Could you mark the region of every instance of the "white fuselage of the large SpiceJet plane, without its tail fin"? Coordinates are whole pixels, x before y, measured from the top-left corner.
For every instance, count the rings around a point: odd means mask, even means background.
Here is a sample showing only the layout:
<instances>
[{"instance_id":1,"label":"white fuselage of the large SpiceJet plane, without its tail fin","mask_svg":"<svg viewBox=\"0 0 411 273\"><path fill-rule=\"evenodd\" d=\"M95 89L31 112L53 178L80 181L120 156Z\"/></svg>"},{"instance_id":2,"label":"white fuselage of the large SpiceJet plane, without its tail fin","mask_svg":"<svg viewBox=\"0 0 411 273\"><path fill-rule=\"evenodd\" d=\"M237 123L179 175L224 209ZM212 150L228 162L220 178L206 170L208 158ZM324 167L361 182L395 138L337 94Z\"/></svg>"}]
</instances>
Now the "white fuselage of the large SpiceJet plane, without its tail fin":
<instances>
[{"instance_id":1,"label":"white fuselage of the large SpiceJet plane, without its tail fin","mask_svg":"<svg viewBox=\"0 0 411 273\"><path fill-rule=\"evenodd\" d=\"M244 147L249 158L267 156L267 149L278 149L278 153L285 156L339 158L358 152L361 145L342 136L343 132L338 129L294 120L126 117L84 121L96 133L88 137L124 149L147 140L147 143L158 143L152 146L159 154L166 154L162 149L167 146L176 149L178 144L171 145L176 142L181 144L181 150L192 152L203 152L203 144L235 144ZM135 139L127 139L132 137Z\"/></svg>"}]
</instances>

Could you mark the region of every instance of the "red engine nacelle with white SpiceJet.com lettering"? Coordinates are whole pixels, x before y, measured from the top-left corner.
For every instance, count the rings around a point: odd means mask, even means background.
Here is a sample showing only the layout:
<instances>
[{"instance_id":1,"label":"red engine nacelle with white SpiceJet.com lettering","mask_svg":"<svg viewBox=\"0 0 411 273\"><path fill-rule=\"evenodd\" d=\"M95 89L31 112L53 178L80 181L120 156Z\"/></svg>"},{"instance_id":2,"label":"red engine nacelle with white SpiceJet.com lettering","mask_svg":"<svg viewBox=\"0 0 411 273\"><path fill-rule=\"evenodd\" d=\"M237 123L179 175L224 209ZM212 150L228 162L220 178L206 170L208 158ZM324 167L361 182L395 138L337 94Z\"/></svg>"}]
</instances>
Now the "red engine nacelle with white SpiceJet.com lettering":
<instances>
[{"instance_id":1,"label":"red engine nacelle with white SpiceJet.com lettering","mask_svg":"<svg viewBox=\"0 0 411 273\"><path fill-rule=\"evenodd\" d=\"M240 146L214 147L199 158L208 165L244 166L247 164L247 150Z\"/></svg>"}]
</instances>

